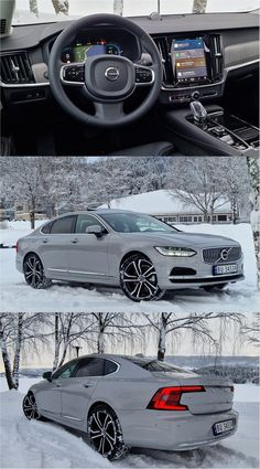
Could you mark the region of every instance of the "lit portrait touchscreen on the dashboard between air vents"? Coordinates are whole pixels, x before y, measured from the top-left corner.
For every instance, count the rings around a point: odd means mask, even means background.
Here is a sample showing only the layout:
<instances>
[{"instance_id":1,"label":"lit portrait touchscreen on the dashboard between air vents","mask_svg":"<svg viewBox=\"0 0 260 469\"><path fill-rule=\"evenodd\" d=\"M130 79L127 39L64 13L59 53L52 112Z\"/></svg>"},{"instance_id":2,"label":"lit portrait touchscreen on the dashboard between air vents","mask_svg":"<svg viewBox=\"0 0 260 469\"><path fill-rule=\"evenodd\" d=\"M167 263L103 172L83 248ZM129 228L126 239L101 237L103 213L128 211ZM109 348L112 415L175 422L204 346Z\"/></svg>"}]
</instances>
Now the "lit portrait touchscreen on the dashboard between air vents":
<instances>
[{"instance_id":1,"label":"lit portrait touchscreen on the dashboard between air vents","mask_svg":"<svg viewBox=\"0 0 260 469\"><path fill-rule=\"evenodd\" d=\"M207 82L205 44L202 38L173 40L171 55L178 84Z\"/></svg>"}]
</instances>

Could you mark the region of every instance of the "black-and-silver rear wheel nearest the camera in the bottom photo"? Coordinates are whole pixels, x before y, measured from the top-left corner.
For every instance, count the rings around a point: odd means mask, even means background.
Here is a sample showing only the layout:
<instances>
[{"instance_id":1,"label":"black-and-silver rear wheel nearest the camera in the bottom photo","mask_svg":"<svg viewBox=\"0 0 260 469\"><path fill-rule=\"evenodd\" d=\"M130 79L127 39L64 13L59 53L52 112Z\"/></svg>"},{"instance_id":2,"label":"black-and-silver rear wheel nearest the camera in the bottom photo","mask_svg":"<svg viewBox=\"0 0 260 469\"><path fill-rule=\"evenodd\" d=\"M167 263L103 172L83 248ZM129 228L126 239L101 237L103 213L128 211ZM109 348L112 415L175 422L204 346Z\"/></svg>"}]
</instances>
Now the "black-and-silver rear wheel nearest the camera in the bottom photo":
<instances>
[{"instance_id":1,"label":"black-and-silver rear wheel nearest the camera in the bottom photo","mask_svg":"<svg viewBox=\"0 0 260 469\"><path fill-rule=\"evenodd\" d=\"M105 404L90 411L87 435L91 448L109 460L121 459L129 450L116 413Z\"/></svg>"}]
</instances>

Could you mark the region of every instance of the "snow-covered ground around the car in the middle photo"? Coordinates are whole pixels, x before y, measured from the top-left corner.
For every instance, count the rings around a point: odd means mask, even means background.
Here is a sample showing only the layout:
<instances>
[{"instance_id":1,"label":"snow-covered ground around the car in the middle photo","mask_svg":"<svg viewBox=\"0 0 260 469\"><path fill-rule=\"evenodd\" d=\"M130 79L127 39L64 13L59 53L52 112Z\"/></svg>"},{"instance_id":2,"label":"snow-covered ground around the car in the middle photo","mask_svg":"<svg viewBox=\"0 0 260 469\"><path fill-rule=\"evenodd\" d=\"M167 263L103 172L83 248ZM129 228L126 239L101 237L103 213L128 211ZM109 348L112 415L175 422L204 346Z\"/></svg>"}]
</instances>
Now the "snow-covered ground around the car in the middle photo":
<instances>
[{"instance_id":1,"label":"snow-covered ground around the car in the middle photo","mask_svg":"<svg viewBox=\"0 0 260 469\"><path fill-rule=\"evenodd\" d=\"M37 222L42 224L43 222ZM9 312L61 312L68 311L123 311L123 312L252 312L258 310L260 295L257 291L257 267L249 224L239 225L180 225L187 232L224 235L238 241L245 255L246 280L228 286L224 292L206 292L203 289L167 292L163 300L156 302L134 303L126 298L121 290L95 288L55 283L47 290L33 290L23 276L15 269L15 251L0 249L0 309ZM17 239L30 233L28 222L11 222L8 230L0 230L0 243L6 246L15 244Z\"/></svg>"}]
</instances>

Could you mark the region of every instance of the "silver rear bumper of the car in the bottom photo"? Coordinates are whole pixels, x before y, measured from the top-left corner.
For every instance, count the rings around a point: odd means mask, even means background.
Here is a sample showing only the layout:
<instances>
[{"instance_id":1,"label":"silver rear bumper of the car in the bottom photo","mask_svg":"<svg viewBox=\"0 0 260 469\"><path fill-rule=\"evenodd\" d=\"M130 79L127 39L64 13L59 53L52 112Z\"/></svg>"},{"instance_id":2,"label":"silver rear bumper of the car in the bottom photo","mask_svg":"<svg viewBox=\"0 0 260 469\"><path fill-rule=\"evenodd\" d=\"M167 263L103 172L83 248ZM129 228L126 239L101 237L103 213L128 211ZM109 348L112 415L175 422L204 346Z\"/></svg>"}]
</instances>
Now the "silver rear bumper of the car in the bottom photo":
<instances>
[{"instance_id":1,"label":"silver rear bumper of the car in the bottom photo","mask_svg":"<svg viewBox=\"0 0 260 469\"><path fill-rule=\"evenodd\" d=\"M214 424L229 419L236 420L235 428L215 436ZM210 415L193 415L189 412L145 409L123 413L120 422L124 443L131 447L185 451L214 445L234 435L238 413L231 409Z\"/></svg>"}]
</instances>

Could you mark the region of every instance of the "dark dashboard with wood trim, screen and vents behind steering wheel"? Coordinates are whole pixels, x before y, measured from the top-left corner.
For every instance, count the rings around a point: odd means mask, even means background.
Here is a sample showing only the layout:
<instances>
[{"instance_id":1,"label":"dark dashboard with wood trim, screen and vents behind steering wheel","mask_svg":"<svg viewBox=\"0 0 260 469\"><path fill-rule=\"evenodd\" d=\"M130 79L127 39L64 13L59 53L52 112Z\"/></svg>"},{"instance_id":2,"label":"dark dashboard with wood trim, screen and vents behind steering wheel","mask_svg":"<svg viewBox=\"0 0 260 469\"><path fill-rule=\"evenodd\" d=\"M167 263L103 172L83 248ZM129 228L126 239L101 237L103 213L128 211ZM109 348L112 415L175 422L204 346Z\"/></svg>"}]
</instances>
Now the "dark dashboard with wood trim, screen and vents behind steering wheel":
<instances>
[{"instance_id":1,"label":"dark dashboard with wood trim, screen and vents behind steering wheel","mask_svg":"<svg viewBox=\"0 0 260 469\"><path fill-rule=\"evenodd\" d=\"M259 14L214 13L132 18L154 40L163 62L161 104L185 104L193 93L202 99L224 94L232 73L257 73L259 66ZM1 86L7 100L47 98L47 63L55 39L69 22L15 26L1 41ZM145 50L128 30L104 26L79 31L62 53L66 63L84 62L97 54L121 55L149 65ZM13 72L22 61L24 76ZM20 67L22 68L22 67ZM20 88L30 87L28 95ZM31 88L36 93L31 93ZM42 90L40 90L42 88Z\"/></svg>"}]
</instances>

